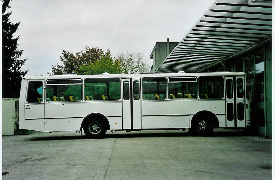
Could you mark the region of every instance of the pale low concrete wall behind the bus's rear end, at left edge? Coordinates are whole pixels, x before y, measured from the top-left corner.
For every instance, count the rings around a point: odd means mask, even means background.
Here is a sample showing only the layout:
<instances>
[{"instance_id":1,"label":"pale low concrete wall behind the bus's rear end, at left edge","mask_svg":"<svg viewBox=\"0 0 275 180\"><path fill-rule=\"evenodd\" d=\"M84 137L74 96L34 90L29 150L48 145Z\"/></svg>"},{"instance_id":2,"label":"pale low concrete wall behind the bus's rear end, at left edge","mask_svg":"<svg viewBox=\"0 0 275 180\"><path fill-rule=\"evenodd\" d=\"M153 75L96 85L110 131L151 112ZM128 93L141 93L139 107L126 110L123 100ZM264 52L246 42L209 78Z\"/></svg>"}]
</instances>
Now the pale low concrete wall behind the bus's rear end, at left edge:
<instances>
[{"instance_id":1,"label":"pale low concrete wall behind the bus's rear end, at left edge","mask_svg":"<svg viewBox=\"0 0 275 180\"><path fill-rule=\"evenodd\" d=\"M2 98L2 135L13 135L19 125L19 99Z\"/></svg>"}]
</instances>

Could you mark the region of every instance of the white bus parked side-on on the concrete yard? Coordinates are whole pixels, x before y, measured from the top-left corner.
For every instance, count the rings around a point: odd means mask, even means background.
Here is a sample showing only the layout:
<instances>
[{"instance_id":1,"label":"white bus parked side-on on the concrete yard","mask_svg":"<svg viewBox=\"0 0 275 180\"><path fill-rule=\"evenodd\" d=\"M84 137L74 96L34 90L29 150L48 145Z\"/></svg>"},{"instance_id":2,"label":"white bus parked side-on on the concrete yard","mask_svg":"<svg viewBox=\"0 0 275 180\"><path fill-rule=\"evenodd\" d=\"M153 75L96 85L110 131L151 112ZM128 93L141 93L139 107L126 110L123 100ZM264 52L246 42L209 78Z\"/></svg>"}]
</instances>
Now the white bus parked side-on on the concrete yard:
<instances>
[{"instance_id":1,"label":"white bus parked side-on on the concrete yard","mask_svg":"<svg viewBox=\"0 0 275 180\"><path fill-rule=\"evenodd\" d=\"M214 127L250 125L246 73L26 76L19 129L81 131L178 130L210 135Z\"/></svg>"}]
</instances>

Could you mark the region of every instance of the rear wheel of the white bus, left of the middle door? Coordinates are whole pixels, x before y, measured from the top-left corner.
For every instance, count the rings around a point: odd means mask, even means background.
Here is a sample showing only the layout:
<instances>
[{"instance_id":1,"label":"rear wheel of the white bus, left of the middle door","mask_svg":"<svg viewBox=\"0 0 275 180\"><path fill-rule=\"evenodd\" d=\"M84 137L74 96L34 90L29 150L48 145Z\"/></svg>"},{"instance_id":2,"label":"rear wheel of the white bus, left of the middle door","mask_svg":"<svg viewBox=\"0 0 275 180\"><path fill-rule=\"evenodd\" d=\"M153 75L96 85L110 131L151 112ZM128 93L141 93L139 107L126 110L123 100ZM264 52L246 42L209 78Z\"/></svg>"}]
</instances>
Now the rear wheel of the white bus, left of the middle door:
<instances>
[{"instance_id":1,"label":"rear wheel of the white bus, left of the middle door","mask_svg":"<svg viewBox=\"0 0 275 180\"><path fill-rule=\"evenodd\" d=\"M100 138L105 134L105 126L102 121L91 120L84 127L84 133L88 138Z\"/></svg>"}]
</instances>

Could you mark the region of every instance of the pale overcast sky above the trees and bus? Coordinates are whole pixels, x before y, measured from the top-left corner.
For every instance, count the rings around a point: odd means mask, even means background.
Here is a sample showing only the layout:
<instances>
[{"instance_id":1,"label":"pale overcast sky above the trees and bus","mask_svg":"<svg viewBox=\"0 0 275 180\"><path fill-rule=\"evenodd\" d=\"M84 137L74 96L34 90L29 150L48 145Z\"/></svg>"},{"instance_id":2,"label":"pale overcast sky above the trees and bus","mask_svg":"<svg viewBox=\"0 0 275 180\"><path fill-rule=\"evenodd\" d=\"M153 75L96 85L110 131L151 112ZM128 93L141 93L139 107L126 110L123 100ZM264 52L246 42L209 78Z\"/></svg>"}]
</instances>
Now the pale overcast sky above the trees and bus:
<instances>
[{"instance_id":1,"label":"pale overcast sky above the trees and bus","mask_svg":"<svg viewBox=\"0 0 275 180\"><path fill-rule=\"evenodd\" d=\"M21 21L21 59L28 58L27 75L46 74L61 63L62 50L85 46L120 52L141 52L152 66L156 42L179 42L214 0L37 1L12 0L11 22Z\"/></svg>"}]
</instances>

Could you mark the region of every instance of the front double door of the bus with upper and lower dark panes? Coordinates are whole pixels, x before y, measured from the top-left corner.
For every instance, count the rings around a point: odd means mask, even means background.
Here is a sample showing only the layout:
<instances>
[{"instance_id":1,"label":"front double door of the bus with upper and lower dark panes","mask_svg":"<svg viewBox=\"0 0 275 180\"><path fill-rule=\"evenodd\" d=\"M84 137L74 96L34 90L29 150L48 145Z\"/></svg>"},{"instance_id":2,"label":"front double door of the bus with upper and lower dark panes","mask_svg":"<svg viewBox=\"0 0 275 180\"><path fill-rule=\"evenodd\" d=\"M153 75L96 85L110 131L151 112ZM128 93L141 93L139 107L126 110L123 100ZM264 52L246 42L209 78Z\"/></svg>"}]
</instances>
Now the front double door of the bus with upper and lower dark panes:
<instances>
[{"instance_id":1,"label":"front double door of the bus with upper and lower dark panes","mask_svg":"<svg viewBox=\"0 0 275 180\"><path fill-rule=\"evenodd\" d=\"M245 127L244 77L226 77L226 127Z\"/></svg>"}]
</instances>

